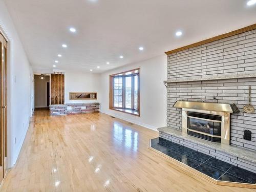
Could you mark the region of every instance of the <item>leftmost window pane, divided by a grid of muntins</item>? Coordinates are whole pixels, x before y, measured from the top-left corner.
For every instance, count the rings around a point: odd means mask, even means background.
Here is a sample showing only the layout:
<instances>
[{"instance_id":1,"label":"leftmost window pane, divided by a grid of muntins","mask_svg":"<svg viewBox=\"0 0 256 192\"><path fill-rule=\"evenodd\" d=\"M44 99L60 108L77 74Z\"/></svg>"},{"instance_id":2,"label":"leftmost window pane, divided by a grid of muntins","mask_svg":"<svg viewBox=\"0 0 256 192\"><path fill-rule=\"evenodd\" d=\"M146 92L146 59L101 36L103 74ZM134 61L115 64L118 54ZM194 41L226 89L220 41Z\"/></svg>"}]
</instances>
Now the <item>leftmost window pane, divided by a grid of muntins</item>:
<instances>
[{"instance_id":1,"label":"leftmost window pane, divided by a grid of muntins","mask_svg":"<svg viewBox=\"0 0 256 192\"><path fill-rule=\"evenodd\" d=\"M114 77L114 106L118 108L122 108L122 77Z\"/></svg>"}]
</instances>

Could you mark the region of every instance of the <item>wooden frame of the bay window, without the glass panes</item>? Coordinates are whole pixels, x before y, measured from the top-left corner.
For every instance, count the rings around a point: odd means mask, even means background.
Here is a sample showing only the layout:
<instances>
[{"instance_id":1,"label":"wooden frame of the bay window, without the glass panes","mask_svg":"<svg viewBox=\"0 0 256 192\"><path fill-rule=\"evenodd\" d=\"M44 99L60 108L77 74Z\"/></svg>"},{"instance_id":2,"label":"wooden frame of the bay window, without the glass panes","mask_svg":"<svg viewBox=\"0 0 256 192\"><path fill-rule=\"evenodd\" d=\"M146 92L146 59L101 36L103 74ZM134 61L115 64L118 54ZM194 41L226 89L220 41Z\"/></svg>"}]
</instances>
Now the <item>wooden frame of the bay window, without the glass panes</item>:
<instances>
[{"instance_id":1,"label":"wooden frame of the bay window, without the glass panes","mask_svg":"<svg viewBox=\"0 0 256 192\"><path fill-rule=\"evenodd\" d=\"M138 71L138 73L135 73L135 71ZM132 74L127 74L132 72ZM138 106L137 110L134 109L134 76L138 75ZM114 78L115 77L122 77L122 108L115 107L114 106ZM124 108L125 106L125 77L132 77L132 109L129 108ZM109 108L111 110L116 110L119 112L131 114L131 115L136 115L140 116L140 68L129 70L129 71L124 71L121 73L116 73L110 75L110 97L109 97Z\"/></svg>"}]
</instances>

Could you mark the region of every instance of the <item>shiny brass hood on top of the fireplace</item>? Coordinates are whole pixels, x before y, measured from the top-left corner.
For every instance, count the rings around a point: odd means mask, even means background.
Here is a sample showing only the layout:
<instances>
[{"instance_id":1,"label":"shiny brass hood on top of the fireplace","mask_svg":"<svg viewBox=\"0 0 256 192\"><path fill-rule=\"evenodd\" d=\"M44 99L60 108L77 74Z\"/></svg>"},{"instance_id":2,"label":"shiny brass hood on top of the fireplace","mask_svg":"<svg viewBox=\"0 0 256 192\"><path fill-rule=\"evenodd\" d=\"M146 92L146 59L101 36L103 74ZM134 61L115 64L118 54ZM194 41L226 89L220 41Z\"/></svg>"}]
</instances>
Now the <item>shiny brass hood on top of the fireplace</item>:
<instances>
[{"instance_id":1,"label":"shiny brass hood on top of the fireplace","mask_svg":"<svg viewBox=\"0 0 256 192\"><path fill-rule=\"evenodd\" d=\"M226 103L209 103L209 102L195 102L195 101L176 101L174 108L185 108L194 110L205 110L226 113L239 113L235 104Z\"/></svg>"}]
</instances>

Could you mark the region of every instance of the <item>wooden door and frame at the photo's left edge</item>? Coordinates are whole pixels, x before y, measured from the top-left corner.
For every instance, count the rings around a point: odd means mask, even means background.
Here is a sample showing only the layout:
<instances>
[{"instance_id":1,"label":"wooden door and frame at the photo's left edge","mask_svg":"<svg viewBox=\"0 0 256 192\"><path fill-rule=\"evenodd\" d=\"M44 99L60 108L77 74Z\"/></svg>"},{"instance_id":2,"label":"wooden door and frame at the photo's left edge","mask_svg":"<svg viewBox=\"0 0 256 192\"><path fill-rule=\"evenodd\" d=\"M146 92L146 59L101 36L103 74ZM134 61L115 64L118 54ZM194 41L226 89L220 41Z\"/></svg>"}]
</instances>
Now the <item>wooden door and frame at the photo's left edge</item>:
<instances>
[{"instance_id":1,"label":"wooden door and frame at the photo's left edge","mask_svg":"<svg viewBox=\"0 0 256 192\"><path fill-rule=\"evenodd\" d=\"M7 170L7 40L0 33L0 183Z\"/></svg>"}]
</instances>

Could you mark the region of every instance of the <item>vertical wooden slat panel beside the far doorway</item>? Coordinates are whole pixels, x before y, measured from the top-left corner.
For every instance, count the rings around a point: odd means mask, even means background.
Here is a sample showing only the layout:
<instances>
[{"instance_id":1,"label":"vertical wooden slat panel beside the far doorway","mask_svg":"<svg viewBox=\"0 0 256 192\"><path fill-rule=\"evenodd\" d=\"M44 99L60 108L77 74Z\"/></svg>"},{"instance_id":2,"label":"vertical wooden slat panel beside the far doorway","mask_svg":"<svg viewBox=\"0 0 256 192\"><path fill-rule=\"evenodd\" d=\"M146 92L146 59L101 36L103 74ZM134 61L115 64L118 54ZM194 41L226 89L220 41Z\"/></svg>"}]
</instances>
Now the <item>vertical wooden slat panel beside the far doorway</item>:
<instances>
[{"instance_id":1,"label":"vertical wooden slat panel beside the far doorway","mask_svg":"<svg viewBox=\"0 0 256 192\"><path fill-rule=\"evenodd\" d=\"M65 83L61 73L51 74L51 104L64 104Z\"/></svg>"}]
</instances>

